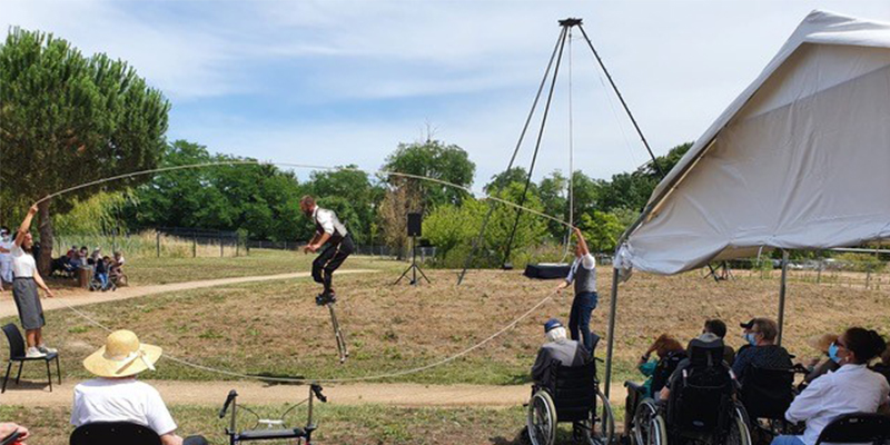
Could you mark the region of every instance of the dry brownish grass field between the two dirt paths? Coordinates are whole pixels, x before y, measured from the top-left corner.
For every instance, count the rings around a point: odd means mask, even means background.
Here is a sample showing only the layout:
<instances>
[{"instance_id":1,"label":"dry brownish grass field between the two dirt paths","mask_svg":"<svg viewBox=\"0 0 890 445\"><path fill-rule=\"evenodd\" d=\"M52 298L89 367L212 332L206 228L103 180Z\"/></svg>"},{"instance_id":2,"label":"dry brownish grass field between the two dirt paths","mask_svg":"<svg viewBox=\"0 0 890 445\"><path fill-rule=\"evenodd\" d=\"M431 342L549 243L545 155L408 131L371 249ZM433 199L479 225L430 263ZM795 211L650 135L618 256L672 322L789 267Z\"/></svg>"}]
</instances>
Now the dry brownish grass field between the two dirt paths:
<instances>
[{"instance_id":1,"label":"dry brownish grass field between the two dirt paths","mask_svg":"<svg viewBox=\"0 0 890 445\"><path fill-rule=\"evenodd\" d=\"M145 340L178 357L245 374L309 378L377 375L422 366L476 344L543 298L555 281L537 281L518 273L477 271L463 286L455 273L433 270L433 285L392 286L398 269L336 279L338 304L353 355L338 365L327 312L315 306L317 285L309 280L249 284L158 295L85 308L101 323L136 330ZM610 288L600 271L600 307L593 328L606 329ZM695 274L657 277L637 274L622 285L615 346L615 382L636 378L635 357L661 333L683 340L701 332L709 317L730 326L728 342L741 345L738 323L773 316L778 281L738 279L715 284ZM864 290L794 283L789 287L785 346L801 358L815 354L807 338L851 325L888 334L887 290ZM567 318L571 297L545 304L515 329L454 363L402 382L517 384L543 340L541 323ZM105 333L69 312L49 314L47 338L61 346L69 364L79 363ZM601 347L600 355L605 348ZM73 368L73 369L72 369ZM83 377L68 366L70 377ZM39 375L36 375L39 377ZM220 379L219 375L164 362L152 378Z\"/></svg>"}]
</instances>

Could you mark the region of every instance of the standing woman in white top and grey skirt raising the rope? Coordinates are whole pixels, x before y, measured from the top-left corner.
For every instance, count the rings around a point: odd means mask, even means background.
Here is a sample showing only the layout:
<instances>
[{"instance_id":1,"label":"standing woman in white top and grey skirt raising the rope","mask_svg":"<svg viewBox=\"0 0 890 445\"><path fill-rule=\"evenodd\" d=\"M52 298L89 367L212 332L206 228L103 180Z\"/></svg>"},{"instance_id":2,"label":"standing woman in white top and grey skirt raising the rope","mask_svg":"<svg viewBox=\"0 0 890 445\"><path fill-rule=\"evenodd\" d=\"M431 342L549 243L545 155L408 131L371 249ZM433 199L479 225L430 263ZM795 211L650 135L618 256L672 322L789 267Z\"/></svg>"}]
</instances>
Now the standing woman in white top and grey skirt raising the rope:
<instances>
[{"instance_id":1,"label":"standing woman in white top and grey skirt raising the rope","mask_svg":"<svg viewBox=\"0 0 890 445\"><path fill-rule=\"evenodd\" d=\"M56 352L56 349L49 348L43 344L42 329L47 322L43 318L43 306L40 304L40 295L37 293L37 287L39 286L43 289L50 298L53 295L52 290L43 283L40 273L37 271L37 264L31 255L34 240L30 228L34 214L37 214L36 205L31 206L28 210L28 216L21 221L19 233L16 234L16 241L10 251L12 255L12 274L16 276L12 280L12 299L16 300L21 327L24 328L28 358L44 357L47 354Z\"/></svg>"}]
</instances>

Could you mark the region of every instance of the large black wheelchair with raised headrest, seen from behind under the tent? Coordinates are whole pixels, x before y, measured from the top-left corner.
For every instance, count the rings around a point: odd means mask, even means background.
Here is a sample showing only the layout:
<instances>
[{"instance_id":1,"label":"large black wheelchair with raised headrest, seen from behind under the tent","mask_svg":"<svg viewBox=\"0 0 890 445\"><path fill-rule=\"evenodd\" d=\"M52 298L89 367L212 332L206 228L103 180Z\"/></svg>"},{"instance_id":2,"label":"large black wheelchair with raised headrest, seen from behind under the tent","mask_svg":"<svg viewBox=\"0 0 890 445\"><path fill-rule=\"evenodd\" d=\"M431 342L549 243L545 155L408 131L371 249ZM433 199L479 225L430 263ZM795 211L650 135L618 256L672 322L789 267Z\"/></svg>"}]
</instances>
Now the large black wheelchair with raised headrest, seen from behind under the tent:
<instances>
[{"instance_id":1,"label":"large black wheelchair with raised headrest, seen from behind under the tent","mask_svg":"<svg viewBox=\"0 0 890 445\"><path fill-rule=\"evenodd\" d=\"M690 344L689 366L672 378L665 402L644 399L636 408L636 445L751 445L748 415L735 400L736 383L723 362L723 343Z\"/></svg>"}]
</instances>

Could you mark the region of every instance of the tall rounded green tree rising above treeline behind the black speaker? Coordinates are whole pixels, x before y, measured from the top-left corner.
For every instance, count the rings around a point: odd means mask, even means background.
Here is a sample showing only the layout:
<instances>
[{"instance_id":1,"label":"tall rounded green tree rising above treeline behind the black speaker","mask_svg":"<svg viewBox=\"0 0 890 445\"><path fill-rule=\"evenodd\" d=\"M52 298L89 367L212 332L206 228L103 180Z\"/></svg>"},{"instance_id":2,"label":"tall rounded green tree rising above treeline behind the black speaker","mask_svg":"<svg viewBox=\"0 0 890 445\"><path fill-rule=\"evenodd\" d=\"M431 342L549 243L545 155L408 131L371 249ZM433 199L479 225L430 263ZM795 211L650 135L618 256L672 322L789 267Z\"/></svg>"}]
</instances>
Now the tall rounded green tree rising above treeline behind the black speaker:
<instances>
[{"instance_id":1,"label":"tall rounded green tree rising above treeline behind the black speaker","mask_svg":"<svg viewBox=\"0 0 890 445\"><path fill-rule=\"evenodd\" d=\"M439 179L462 187L472 186L473 175L476 174L476 165L463 148L438 140L399 144L396 151L386 158L383 169ZM447 202L459 204L467 196L461 189L427 180L407 179L406 184L423 198L422 210Z\"/></svg>"}]
</instances>

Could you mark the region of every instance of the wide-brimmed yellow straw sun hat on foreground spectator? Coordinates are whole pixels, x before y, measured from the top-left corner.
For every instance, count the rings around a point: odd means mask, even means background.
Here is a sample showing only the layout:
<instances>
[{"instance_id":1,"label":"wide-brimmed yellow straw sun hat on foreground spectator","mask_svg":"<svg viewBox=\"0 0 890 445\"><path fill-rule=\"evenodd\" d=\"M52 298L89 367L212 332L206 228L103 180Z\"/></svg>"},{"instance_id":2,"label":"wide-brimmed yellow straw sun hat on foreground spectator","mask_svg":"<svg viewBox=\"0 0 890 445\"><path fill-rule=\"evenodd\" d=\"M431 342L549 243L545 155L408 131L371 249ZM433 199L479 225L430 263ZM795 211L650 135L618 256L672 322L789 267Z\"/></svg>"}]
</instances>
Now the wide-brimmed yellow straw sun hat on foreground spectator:
<instances>
[{"instance_id":1,"label":"wide-brimmed yellow straw sun hat on foreground spectator","mask_svg":"<svg viewBox=\"0 0 890 445\"><path fill-rule=\"evenodd\" d=\"M105 346L83 359L83 367L99 377L129 377L146 369L155 370L160 358L159 346L139 343L130 330L115 330Z\"/></svg>"}]
</instances>

